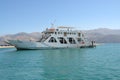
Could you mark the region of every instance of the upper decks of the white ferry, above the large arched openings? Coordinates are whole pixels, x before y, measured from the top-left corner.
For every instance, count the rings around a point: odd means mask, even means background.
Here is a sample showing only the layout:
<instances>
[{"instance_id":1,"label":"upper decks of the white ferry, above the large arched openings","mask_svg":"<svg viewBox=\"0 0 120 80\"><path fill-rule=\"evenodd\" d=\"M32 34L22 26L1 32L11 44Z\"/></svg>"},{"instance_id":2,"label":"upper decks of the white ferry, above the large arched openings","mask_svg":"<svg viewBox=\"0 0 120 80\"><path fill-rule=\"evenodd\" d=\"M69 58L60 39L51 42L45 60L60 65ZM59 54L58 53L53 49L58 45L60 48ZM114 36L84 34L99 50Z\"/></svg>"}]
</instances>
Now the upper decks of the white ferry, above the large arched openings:
<instances>
[{"instance_id":1,"label":"upper decks of the white ferry, above the large arched openings","mask_svg":"<svg viewBox=\"0 0 120 80\"><path fill-rule=\"evenodd\" d=\"M47 28L43 32L43 36L56 36L56 37L84 37L80 30L75 30L73 27L60 26L57 28Z\"/></svg>"}]
</instances>

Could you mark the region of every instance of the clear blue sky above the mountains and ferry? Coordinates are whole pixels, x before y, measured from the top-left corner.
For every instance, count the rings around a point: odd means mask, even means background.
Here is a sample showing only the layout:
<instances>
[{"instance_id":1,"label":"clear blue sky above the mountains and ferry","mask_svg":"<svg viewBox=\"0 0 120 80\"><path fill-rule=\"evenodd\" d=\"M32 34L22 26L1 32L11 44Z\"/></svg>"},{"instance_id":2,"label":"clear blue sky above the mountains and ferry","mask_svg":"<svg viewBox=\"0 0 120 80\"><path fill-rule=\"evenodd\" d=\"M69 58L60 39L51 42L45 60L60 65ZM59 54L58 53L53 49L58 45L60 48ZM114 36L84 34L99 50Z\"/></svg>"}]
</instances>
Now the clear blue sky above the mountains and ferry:
<instances>
[{"instance_id":1,"label":"clear blue sky above the mountains and ferry","mask_svg":"<svg viewBox=\"0 0 120 80\"><path fill-rule=\"evenodd\" d=\"M0 35L54 26L120 29L120 0L0 0Z\"/></svg>"}]
</instances>

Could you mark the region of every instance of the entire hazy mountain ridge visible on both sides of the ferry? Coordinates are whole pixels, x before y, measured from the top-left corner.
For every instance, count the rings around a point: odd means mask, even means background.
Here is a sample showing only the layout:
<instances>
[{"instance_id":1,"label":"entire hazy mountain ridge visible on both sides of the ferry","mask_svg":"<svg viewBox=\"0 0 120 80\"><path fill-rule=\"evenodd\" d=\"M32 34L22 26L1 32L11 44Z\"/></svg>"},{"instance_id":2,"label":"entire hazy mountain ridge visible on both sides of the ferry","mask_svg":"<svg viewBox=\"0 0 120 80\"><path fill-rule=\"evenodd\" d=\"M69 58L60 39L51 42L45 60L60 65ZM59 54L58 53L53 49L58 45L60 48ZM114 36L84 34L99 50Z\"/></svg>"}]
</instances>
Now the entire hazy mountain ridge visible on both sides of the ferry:
<instances>
[{"instance_id":1,"label":"entire hazy mountain ridge visible on both sides of the ferry","mask_svg":"<svg viewBox=\"0 0 120 80\"><path fill-rule=\"evenodd\" d=\"M120 30L99 28L94 30L83 30L83 32L90 41L95 40L98 43L120 43ZM17 34L1 36L0 45L5 44L4 41L7 39L37 41L40 38L41 38L40 32L33 32L33 33L20 32Z\"/></svg>"}]
</instances>

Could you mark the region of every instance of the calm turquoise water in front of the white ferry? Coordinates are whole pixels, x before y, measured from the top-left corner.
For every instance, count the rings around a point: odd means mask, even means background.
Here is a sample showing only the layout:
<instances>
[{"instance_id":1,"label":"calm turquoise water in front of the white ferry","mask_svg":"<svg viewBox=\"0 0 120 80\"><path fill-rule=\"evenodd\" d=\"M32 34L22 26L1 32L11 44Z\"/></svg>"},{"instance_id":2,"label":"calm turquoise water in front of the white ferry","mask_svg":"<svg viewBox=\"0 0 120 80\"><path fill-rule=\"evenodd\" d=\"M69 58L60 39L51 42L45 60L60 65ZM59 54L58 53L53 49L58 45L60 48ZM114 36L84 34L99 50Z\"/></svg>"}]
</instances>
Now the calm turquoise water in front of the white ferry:
<instances>
[{"instance_id":1,"label":"calm turquoise water in front of the white ferry","mask_svg":"<svg viewBox=\"0 0 120 80\"><path fill-rule=\"evenodd\" d=\"M0 80L119 79L120 44L86 49L0 49Z\"/></svg>"}]
</instances>

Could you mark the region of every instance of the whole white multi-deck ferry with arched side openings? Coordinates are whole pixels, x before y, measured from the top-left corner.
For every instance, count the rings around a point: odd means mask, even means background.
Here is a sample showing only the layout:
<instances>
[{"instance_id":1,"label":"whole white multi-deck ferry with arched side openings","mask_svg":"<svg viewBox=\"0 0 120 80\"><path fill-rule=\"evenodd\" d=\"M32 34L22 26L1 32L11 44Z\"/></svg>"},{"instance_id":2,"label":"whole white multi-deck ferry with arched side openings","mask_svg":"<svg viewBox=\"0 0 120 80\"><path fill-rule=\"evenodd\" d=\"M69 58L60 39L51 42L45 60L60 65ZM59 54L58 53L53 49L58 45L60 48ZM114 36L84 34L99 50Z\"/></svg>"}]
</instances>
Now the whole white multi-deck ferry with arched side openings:
<instances>
[{"instance_id":1,"label":"whole white multi-deck ferry with arched side openings","mask_svg":"<svg viewBox=\"0 0 120 80\"><path fill-rule=\"evenodd\" d=\"M42 32L42 38L39 41L7 40L6 43L15 46L17 50L83 48L95 46L94 42L89 42L80 30L63 26L46 29Z\"/></svg>"}]
</instances>

